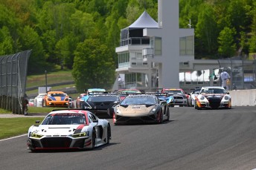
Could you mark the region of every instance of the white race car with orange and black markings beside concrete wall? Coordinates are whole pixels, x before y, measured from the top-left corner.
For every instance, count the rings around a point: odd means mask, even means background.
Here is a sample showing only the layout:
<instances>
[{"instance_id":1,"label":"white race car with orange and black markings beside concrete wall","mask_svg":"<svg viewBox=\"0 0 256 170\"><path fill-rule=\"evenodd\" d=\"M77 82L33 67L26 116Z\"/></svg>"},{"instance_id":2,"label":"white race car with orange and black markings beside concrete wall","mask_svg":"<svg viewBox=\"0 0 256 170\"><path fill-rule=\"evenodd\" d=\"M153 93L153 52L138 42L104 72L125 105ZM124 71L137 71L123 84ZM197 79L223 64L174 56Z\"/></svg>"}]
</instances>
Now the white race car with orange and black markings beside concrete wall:
<instances>
[{"instance_id":1,"label":"white race car with orange and black markings beside concrete wall","mask_svg":"<svg viewBox=\"0 0 256 170\"><path fill-rule=\"evenodd\" d=\"M202 108L231 108L231 96L223 87L202 87L195 98L194 107L198 110Z\"/></svg>"}]
</instances>

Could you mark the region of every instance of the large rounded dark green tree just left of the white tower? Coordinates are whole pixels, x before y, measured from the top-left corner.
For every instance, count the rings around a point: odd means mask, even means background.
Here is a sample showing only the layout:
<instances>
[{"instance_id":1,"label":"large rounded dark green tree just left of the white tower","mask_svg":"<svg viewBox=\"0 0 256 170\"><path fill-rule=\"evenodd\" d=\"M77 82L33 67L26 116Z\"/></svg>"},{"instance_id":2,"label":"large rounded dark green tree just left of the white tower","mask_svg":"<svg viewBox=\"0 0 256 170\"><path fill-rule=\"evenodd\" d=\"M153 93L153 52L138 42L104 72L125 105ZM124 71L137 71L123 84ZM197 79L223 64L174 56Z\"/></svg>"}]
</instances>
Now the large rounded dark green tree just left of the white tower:
<instances>
[{"instance_id":1,"label":"large rounded dark green tree just left of the white tower","mask_svg":"<svg viewBox=\"0 0 256 170\"><path fill-rule=\"evenodd\" d=\"M80 42L75 51L72 75L80 92L86 88L112 88L115 68L107 46L98 39Z\"/></svg>"}]
</instances>

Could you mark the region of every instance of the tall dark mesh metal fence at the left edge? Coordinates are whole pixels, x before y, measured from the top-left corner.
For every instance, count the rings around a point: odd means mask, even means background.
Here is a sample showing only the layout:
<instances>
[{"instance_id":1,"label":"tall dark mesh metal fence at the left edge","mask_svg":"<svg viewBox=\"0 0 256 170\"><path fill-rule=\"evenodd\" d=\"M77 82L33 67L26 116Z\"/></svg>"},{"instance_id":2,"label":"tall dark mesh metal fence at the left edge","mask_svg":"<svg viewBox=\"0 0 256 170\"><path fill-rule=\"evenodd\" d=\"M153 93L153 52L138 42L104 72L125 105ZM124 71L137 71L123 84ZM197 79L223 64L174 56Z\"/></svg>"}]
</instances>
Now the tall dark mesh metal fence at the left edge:
<instances>
[{"instance_id":1,"label":"tall dark mesh metal fence at the left edge","mask_svg":"<svg viewBox=\"0 0 256 170\"><path fill-rule=\"evenodd\" d=\"M28 58L31 50L0 56L0 108L24 114Z\"/></svg>"}]
</instances>

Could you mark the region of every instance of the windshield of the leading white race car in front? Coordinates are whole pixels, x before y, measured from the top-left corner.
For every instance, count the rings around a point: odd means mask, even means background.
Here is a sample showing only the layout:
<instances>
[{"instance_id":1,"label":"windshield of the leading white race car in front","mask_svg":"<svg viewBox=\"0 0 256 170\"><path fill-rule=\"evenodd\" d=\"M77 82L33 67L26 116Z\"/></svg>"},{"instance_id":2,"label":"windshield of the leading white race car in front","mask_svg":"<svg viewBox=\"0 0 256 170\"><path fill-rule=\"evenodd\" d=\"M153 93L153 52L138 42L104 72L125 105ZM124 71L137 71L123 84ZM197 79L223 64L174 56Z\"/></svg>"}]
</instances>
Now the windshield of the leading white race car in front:
<instances>
[{"instance_id":1,"label":"windshield of the leading white race car in front","mask_svg":"<svg viewBox=\"0 0 256 170\"><path fill-rule=\"evenodd\" d=\"M86 124L84 114L50 114L42 125L80 125Z\"/></svg>"}]
</instances>

